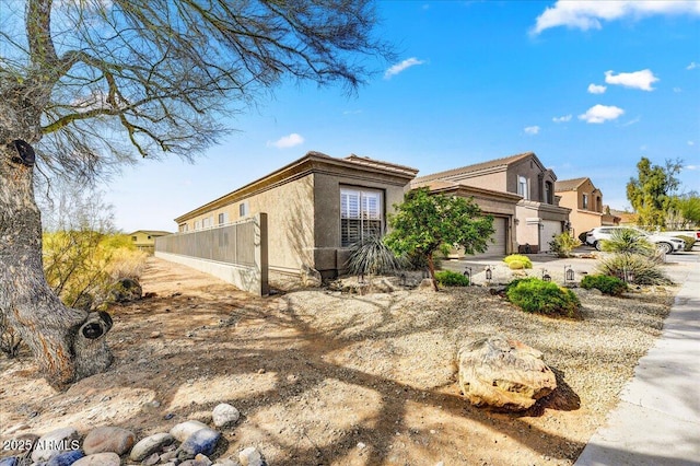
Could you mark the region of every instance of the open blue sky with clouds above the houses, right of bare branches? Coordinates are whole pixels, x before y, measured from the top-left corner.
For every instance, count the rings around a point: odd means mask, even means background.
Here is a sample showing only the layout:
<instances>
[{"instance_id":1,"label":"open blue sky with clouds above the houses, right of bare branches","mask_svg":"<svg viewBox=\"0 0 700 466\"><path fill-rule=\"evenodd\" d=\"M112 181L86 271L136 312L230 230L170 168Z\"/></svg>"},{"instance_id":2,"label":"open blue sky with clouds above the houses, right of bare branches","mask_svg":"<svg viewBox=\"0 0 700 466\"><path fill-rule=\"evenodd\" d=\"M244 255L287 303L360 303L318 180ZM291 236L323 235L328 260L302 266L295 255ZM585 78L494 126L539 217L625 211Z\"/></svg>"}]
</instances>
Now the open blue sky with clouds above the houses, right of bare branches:
<instances>
[{"instance_id":1,"label":"open blue sky with clouds above the houses, right of bare branches","mask_svg":"<svg viewBox=\"0 0 700 466\"><path fill-rule=\"evenodd\" d=\"M641 156L682 159L700 191L700 1L382 1L398 59L354 96L290 83L196 164L127 167L106 189L116 225L173 221L307 151L366 155L419 175L534 151L588 176L612 208Z\"/></svg>"}]
</instances>

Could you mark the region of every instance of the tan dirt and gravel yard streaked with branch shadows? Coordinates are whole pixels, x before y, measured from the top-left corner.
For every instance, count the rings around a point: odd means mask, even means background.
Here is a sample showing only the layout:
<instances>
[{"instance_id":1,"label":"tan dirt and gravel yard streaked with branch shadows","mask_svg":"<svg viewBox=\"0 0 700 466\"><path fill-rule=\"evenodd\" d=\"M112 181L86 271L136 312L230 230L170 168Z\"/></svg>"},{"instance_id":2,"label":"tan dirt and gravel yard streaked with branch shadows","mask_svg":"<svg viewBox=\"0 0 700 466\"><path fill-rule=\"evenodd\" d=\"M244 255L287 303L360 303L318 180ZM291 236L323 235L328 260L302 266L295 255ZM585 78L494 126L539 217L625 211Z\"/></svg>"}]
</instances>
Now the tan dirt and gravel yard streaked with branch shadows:
<instances>
[{"instance_id":1,"label":"tan dirt and gravel yard streaked with branch shadows","mask_svg":"<svg viewBox=\"0 0 700 466\"><path fill-rule=\"evenodd\" d=\"M275 466L570 465L675 292L584 294L574 322L527 315L480 287L254 298L155 258L142 286L155 296L110 310L108 372L57 393L31 359L0 357L0 438L18 424L112 424L141 439L230 403L242 419L223 430L219 457L254 445ZM459 342L493 331L541 350L558 375L560 388L526 413L471 407L455 383Z\"/></svg>"}]
</instances>

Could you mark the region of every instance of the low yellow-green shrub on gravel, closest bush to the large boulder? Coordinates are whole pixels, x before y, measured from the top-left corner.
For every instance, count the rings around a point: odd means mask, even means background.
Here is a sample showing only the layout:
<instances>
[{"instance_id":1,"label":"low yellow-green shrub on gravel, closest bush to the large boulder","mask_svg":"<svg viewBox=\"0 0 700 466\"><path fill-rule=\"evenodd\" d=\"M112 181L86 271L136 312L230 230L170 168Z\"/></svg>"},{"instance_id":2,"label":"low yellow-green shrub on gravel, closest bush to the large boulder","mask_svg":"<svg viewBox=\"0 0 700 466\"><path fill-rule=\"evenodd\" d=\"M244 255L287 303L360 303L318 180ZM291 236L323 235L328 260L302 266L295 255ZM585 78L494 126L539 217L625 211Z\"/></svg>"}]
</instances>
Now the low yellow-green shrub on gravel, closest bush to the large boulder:
<instances>
[{"instance_id":1,"label":"low yellow-green shrub on gravel, closest bush to the large boulder","mask_svg":"<svg viewBox=\"0 0 700 466\"><path fill-rule=\"evenodd\" d=\"M579 316L579 298L569 289L538 278L517 280L506 287L509 301L525 312L551 316Z\"/></svg>"}]
</instances>

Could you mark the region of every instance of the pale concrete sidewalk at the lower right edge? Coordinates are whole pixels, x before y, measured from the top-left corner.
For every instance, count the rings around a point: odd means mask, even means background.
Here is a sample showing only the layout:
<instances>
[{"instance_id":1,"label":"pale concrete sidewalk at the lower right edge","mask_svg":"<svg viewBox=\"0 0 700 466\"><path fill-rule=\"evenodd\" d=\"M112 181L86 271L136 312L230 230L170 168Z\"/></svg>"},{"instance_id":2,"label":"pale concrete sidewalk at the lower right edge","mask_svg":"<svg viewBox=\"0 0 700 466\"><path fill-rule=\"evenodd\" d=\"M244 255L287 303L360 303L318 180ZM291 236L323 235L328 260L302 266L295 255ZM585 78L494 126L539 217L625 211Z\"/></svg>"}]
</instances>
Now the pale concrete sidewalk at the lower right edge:
<instances>
[{"instance_id":1,"label":"pale concrete sidewalk at the lower right edge","mask_svg":"<svg viewBox=\"0 0 700 466\"><path fill-rule=\"evenodd\" d=\"M700 465L700 261L696 257L662 336L640 359L606 424L576 461L592 465Z\"/></svg>"}]
</instances>

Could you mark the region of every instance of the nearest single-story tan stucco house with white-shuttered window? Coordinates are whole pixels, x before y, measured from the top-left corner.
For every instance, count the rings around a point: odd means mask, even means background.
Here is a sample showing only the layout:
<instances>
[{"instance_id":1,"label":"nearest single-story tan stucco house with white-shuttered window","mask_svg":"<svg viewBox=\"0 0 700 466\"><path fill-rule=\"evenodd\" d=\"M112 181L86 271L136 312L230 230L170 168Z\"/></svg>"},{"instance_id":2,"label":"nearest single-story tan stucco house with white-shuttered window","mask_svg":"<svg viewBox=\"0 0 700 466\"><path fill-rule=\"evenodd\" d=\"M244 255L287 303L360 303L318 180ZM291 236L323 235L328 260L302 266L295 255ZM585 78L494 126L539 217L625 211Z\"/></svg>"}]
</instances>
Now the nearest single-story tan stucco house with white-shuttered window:
<instances>
[{"instance_id":1,"label":"nearest single-story tan stucco house with white-shuttered window","mask_svg":"<svg viewBox=\"0 0 700 466\"><path fill-rule=\"evenodd\" d=\"M175 221L179 232L188 232L265 212L271 280L306 269L335 277L345 268L347 246L386 231L387 213L404 200L417 173L369 158L308 152Z\"/></svg>"}]
</instances>

